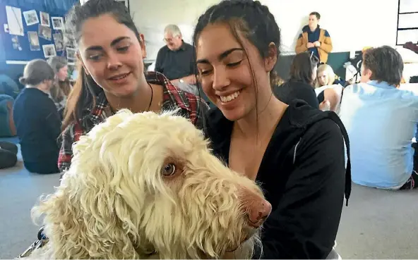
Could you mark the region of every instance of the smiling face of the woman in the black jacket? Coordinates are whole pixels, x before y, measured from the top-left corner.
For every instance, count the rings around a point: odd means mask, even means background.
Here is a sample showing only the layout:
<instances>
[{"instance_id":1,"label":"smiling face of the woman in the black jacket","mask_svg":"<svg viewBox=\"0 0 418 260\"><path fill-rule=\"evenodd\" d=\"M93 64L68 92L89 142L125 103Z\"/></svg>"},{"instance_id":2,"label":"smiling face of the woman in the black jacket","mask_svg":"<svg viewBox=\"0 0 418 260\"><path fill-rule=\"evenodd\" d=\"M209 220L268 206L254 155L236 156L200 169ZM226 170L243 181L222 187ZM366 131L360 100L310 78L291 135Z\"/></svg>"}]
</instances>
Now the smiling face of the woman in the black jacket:
<instances>
[{"instance_id":1,"label":"smiling face of the woman in the black jacket","mask_svg":"<svg viewBox=\"0 0 418 260\"><path fill-rule=\"evenodd\" d=\"M244 37L241 39L244 46L237 42L227 25L216 24L205 27L196 44L203 92L229 120L244 118L254 111L256 104L268 100L270 86L261 86L269 85L268 72L276 61L265 61L268 59L261 58L253 44ZM257 95L250 63L259 86Z\"/></svg>"}]
</instances>

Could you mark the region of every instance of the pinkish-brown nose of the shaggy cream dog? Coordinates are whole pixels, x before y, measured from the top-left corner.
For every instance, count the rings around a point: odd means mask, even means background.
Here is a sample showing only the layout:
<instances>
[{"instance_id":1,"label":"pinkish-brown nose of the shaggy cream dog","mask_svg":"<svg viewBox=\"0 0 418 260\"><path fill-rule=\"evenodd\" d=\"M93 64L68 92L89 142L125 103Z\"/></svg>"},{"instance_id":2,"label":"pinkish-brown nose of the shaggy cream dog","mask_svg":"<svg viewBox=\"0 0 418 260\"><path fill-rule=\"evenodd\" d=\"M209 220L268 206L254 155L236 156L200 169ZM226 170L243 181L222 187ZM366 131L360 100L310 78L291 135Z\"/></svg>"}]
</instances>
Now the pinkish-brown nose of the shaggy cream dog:
<instances>
[{"instance_id":1,"label":"pinkish-brown nose of the shaggy cream dog","mask_svg":"<svg viewBox=\"0 0 418 260\"><path fill-rule=\"evenodd\" d=\"M244 207L248 216L248 223L253 228L259 228L271 213L271 204L260 195L244 192Z\"/></svg>"}]
</instances>

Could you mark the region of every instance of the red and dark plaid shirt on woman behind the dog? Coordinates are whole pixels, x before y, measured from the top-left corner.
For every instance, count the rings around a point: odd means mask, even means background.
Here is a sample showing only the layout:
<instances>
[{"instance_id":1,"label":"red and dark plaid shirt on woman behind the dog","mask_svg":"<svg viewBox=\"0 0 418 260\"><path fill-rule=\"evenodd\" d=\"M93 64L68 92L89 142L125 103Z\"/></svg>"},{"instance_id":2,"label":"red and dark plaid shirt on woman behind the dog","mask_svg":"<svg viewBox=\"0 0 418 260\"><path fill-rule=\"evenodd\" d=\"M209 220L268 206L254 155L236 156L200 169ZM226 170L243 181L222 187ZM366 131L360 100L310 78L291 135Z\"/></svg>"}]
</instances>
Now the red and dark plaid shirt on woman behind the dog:
<instances>
[{"instance_id":1,"label":"red and dark plaid shirt on woman behind the dog","mask_svg":"<svg viewBox=\"0 0 418 260\"><path fill-rule=\"evenodd\" d=\"M208 104L195 95L178 89L161 73L148 72L145 77L150 84L162 85L164 87L162 110L179 107L181 114L190 118L191 123L196 125L196 128L203 128L203 116L208 111ZM73 143L78 141L81 135L85 135L95 125L102 123L106 118L112 116L104 92L97 97L95 107L85 109L83 114L84 116L80 122L68 125L68 128L66 128L62 135L61 150L59 151L58 159L58 167L61 173L71 165Z\"/></svg>"}]
</instances>

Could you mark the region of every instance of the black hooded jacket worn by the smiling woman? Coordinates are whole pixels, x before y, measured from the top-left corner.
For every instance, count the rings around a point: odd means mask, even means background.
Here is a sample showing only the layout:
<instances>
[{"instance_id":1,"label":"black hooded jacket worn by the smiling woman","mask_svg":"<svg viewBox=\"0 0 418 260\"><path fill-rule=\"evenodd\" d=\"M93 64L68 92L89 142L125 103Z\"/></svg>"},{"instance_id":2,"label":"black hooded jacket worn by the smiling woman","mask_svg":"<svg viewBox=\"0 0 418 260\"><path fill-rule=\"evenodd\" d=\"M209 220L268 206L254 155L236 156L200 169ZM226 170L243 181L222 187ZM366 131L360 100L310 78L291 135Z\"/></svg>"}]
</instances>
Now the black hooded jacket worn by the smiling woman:
<instances>
[{"instance_id":1,"label":"black hooded jacket worn by the smiling woman","mask_svg":"<svg viewBox=\"0 0 418 260\"><path fill-rule=\"evenodd\" d=\"M228 163L233 122L215 108L205 135ZM343 138L344 137L344 138ZM351 192L347 132L331 111L293 101L277 124L256 181L273 211L263 225L263 259L325 259L333 248L343 206ZM249 153L251 154L251 153ZM258 257L258 256L255 256Z\"/></svg>"}]
</instances>

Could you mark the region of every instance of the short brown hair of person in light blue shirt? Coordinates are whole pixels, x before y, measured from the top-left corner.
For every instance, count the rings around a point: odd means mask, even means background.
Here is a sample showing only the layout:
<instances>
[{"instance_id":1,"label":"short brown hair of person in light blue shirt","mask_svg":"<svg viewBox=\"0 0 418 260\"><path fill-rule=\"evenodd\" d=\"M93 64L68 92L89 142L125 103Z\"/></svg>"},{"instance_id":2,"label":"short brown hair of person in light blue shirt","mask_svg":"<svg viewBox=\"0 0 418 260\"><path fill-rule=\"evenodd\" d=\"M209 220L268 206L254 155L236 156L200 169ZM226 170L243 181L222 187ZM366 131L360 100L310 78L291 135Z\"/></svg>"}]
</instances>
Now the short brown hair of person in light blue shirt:
<instances>
[{"instance_id":1,"label":"short brown hair of person in light blue shirt","mask_svg":"<svg viewBox=\"0 0 418 260\"><path fill-rule=\"evenodd\" d=\"M392 47L366 49L363 52L362 65L371 70L370 80L385 81L395 86L402 80L402 56Z\"/></svg>"}]
</instances>

